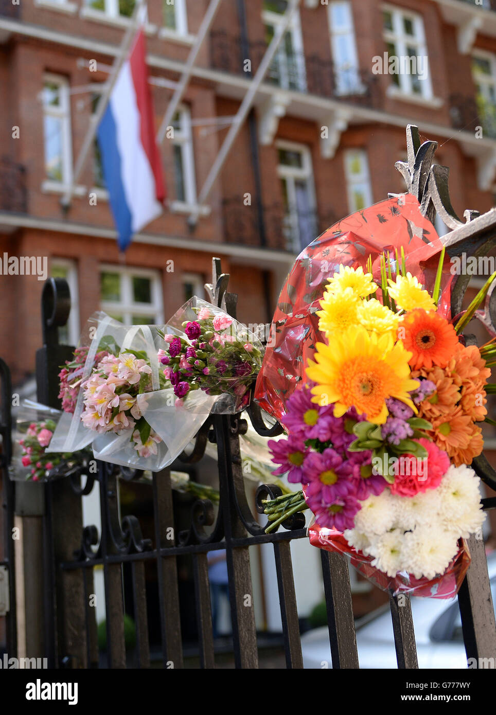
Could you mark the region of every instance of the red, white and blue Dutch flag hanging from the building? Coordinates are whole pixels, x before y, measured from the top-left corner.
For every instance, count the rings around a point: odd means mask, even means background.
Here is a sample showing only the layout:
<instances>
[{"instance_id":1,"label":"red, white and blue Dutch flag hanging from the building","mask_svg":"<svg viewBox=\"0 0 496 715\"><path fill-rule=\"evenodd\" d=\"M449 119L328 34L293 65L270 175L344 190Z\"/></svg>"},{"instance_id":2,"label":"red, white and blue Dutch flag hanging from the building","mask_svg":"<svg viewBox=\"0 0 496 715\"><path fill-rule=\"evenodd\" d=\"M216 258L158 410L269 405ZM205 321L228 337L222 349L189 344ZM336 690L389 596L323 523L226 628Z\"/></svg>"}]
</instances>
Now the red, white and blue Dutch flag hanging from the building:
<instances>
[{"instance_id":1,"label":"red, white and blue Dutch flag hanging from the building","mask_svg":"<svg viewBox=\"0 0 496 715\"><path fill-rule=\"evenodd\" d=\"M124 251L132 235L162 213L166 195L143 30L119 71L96 137L119 248Z\"/></svg>"}]
</instances>

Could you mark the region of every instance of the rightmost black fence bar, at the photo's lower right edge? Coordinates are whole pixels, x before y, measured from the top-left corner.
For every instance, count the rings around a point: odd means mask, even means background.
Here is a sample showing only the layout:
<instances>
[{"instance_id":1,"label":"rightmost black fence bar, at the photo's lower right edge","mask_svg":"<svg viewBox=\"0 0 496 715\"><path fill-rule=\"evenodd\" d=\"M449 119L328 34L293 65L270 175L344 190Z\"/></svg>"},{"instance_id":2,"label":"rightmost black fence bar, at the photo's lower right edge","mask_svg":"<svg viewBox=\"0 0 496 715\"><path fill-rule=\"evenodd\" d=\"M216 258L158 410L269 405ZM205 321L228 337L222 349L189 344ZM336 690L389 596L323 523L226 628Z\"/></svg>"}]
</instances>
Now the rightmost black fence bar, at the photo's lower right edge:
<instances>
[{"instance_id":1,"label":"rightmost black fence bar, at the photo's lower right edge","mask_svg":"<svg viewBox=\"0 0 496 715\"><path fill-rule=\"evenodd\" d=\"M496 656L496 622L491 586L487 575L487 560L482 539L475 534L468 539L472 563L458 592L462 616L463 641L467 659Z\"/></svg>"}]
</instances>

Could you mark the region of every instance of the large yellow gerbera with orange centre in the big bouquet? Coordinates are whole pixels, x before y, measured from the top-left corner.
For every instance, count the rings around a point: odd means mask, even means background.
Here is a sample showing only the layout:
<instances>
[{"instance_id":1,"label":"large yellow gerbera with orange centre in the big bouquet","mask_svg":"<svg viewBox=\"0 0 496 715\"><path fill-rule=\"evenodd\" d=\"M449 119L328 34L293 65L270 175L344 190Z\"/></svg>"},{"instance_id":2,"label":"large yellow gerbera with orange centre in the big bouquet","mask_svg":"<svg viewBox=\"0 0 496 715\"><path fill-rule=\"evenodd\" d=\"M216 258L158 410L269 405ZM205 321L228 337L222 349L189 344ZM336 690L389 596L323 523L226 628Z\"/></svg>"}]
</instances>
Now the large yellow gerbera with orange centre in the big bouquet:
<instances>
[{"instance_id":1,"label":"large yellow gerbera with orange centre in the big bouquet","mask_svg":"<svg viewBox=\"0 0 496 715\"><path fill-rule=\"evenodd\" d=\"M387 418L387 398L397 398L417 412L410 391L419 383L410 378L412 357L402 342L389 333L378 336L362 325L337 333L332 345L318 342L315 360L308 361L307 376L316 385L312 400L319 405L334 403L334 415L341 417L351 407L369 422L382 425Z\"/></svg>"}]
</instances>

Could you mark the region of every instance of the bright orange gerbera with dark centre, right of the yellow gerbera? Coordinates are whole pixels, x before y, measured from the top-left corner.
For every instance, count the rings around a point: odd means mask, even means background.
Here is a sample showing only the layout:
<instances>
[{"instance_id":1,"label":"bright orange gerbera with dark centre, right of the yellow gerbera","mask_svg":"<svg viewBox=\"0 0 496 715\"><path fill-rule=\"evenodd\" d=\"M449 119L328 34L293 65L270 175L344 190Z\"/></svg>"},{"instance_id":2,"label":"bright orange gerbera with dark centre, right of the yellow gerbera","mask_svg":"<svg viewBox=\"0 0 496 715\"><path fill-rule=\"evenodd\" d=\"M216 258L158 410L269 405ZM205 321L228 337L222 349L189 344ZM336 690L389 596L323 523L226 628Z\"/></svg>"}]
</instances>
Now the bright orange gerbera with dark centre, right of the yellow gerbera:
<instances>
[{"instance_id":1,"label":"bright orange gerbera with dark centre, right of the yellow gerbera","mask_svg":"<svg viewBox=\"0 0 496 715\"><path fill-rule=\"evenodd\" d=\"M412 352L409 362L413 370L432 365L445 368L458 345L455 328L434 310L423 308L403 316L398 336L405 350Z\"/></svg>"}]
</instances>

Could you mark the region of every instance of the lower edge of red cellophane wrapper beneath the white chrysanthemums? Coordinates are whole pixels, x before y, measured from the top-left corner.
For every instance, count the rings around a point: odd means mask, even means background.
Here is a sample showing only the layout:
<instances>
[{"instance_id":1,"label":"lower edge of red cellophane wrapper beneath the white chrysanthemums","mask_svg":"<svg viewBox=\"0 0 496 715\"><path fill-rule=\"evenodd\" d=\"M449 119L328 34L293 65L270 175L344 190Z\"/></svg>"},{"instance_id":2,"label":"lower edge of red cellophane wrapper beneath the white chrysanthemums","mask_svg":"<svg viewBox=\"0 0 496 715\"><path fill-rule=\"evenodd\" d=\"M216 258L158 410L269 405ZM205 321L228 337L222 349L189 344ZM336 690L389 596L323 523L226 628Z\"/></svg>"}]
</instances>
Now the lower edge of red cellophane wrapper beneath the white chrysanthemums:
<instances>
[{"instance_id":1,"label":"lower edge of red cellophane wrapper beneath the white chrysanthemums","mask_svg":"<svg viewBox=\"0 0 496 715\"><path fill-rule=\"evenodd\" d=\"M428 598L453 598L456 596L467 569L470 566L470 551L465 539L460 539L459 549L445 573L436 578L415 578L406 571L397 573L394 578L372 566L373 556L365 556L362 551L356 551L337 529L319 526L314 523L308 530L310 543L324 551L334 551L349 557L352 566L368 581L397 596L407 593L410 596L425 596Z\"/></svg>"}]
</instances>

